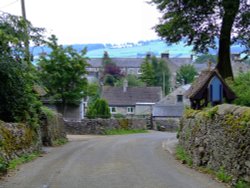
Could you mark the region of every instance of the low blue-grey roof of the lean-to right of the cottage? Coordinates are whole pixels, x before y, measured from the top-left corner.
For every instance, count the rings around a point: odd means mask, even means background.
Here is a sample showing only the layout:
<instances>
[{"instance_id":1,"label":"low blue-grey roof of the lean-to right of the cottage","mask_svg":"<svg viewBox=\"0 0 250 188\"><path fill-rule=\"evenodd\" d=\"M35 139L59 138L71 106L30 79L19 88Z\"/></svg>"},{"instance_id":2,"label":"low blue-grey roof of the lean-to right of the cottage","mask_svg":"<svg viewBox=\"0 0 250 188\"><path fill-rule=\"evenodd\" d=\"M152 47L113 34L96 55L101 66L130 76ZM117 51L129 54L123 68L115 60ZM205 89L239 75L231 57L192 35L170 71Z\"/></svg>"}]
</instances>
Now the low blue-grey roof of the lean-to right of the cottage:
<instances>
[{"instance_id":1,"label":"low blue-grey roof of the lean-to right of the cottage","mask_svg":"<svg viewBox=\"0 0 250 188\"><path fill-rule=\"evenodd\" d=\"M181 117L183 115L184 105L154 106L153 117Z\"/></svg>"}]
</instances>

